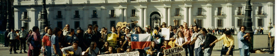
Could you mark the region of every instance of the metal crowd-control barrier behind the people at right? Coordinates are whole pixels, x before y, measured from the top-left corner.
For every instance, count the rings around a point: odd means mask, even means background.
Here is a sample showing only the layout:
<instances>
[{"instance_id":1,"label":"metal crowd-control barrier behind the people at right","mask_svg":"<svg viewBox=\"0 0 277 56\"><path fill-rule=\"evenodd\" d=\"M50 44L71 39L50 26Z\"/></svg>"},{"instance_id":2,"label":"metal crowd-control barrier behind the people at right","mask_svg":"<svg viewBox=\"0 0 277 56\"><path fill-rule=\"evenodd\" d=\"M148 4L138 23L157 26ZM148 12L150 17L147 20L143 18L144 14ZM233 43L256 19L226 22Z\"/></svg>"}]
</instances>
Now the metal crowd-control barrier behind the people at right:
<instances>
[{"instance_id":1,"label":"metal crowd-control barrier behind the people at right","mask_svg":"<svg viewBox=\"0 0 277 56\"><path fill-rule=\"evenodd\" d=\"M217 38L219 38L221 35L215 35ZM238 36L232 35L234 37L234 50L238 49ZM268 34L254 34L253 35L253 49L269 49L270 48L270 38L268 38ZM223 41L220 40L217 43L215 43L215 46L213 50L221 50L223 45ZM249 48L250 49L250 48Z\"/></svg>"}]
</instances>

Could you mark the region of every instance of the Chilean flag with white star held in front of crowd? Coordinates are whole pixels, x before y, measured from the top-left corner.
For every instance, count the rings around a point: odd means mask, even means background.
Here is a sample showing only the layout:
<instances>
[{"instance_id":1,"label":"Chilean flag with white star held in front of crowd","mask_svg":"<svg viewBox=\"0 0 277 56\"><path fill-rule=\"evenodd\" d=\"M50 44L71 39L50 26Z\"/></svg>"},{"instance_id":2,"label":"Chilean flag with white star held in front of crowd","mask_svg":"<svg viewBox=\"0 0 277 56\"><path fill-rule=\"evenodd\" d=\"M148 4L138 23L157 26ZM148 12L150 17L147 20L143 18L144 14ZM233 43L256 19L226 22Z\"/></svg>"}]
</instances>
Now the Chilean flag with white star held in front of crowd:
<instances>
[{"instance_id":1,"label":"Chilean flag with white star held in front of crowd","mask_svg":"<svg viewBox=\"0 0 277 56\"><path fill-rule=\"evenodd\" d=\"M131 48L144 49L150 46L151 34L131 34Z\"/></svg>"}]
</instances>

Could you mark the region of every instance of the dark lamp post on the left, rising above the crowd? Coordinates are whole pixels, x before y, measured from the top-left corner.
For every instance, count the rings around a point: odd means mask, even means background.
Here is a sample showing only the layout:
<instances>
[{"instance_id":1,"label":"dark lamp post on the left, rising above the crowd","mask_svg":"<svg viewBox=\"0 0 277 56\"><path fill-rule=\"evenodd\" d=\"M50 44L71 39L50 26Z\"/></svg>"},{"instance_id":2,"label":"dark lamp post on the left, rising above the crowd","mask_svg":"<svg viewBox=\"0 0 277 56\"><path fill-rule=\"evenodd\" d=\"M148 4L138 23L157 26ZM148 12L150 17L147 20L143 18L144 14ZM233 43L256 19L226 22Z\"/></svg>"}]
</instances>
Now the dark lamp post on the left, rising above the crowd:
<instances>
[{"instance_id":1,"label":"dark lamp post on the left, rising above the crowd","mask_svg":"<svg viewBox=\"0 0 277 56\"><path fill-rule=\"evenodd\" d=\"M47 20L47 10L46 10L46 0L42 0L42 12L41 12L41 14L42 14L42 24L41 24L41 26L42 26L42 29L41 29L41 32L43 33L43 32L45 32L44 31L44 28L45 27L48 27L49 25L48 25L48 20Z\"/></svg>"}]
</instances>

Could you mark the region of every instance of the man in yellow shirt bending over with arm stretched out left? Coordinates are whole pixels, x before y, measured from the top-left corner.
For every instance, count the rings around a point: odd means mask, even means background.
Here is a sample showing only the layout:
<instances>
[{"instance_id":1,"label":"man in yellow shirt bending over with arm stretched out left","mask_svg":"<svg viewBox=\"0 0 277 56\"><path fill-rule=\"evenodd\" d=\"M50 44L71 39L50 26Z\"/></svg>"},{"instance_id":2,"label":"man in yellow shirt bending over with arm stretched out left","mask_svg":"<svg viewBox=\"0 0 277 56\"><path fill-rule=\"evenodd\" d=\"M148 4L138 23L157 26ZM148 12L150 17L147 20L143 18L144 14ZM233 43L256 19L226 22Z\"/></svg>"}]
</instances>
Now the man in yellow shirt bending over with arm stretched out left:
<instances>
[{"instance_id":1,"label":"man in yellow shirt bending over with arm stretched out left","mask_svg":"<svg viewBox=\"0 0 277 56\"><path fill-rule=\"evenodd\" d=\"M234 45L234 37L231 35L231 31L225 31L225 33L223 35L220 36L220 38L217 38L217 40L215 40L213 43L210 44L210 46L212 46L212 44L220 41L223 39L223 46L221 49L221 55L233 55L233 45Z\"/></svg>"}]
</instances>

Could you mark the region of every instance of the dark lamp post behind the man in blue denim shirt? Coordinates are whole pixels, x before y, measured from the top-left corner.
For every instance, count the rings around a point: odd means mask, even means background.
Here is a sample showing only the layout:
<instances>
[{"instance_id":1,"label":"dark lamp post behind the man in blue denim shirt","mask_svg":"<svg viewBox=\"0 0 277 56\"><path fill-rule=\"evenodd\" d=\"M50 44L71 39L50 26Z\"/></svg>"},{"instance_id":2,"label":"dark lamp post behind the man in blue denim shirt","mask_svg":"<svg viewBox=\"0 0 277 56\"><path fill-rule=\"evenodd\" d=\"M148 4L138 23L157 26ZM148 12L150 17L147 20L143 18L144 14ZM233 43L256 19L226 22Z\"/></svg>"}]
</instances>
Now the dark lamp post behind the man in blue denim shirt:
<instances>
[{"instance_id":1,"label":"dark lamp post behind the man in blue denim shirt","mask_svg":"<svg viewBox=\"0 0 277 56\"><path fill-rule=\"evenodd\" d=\"M245 18L244 18L244 25L246 26L245 33L249 33L251 39L253 39L253 29L252 29L252 6L250 4L251 0L246 0L246 7L245 7ZM253 40L250 41L251 43L248 44L249 51L253 50Z\"/></svg>"}]
</instances>

